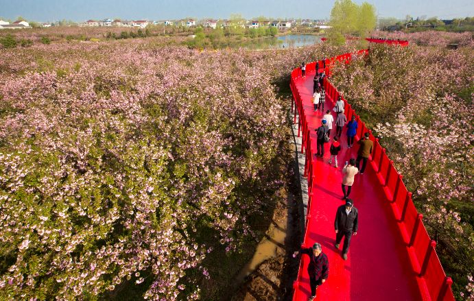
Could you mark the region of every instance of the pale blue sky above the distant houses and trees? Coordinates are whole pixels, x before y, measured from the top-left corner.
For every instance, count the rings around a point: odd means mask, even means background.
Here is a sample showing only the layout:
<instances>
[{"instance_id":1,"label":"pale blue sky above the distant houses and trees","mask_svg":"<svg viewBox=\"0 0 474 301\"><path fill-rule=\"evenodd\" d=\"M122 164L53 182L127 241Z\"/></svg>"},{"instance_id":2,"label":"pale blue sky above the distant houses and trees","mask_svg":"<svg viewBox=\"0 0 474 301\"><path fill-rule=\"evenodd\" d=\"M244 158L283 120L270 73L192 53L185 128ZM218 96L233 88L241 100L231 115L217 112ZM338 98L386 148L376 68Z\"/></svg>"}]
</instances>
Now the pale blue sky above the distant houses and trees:
<instances>
[{"instance_id":1,"label":"pale blue sky above the distant houses and trees","mask_svg":"<svg viewBox=\"0 0 474 301\"><path fill-rule=\"evenodd\" d=\"M355 3L362 1L353 0ZM368 0L379 16L404 19L410 14L440 19L474 16L473 0ZM241 14L274 18L329 19L334 1L323 0L0 0L0 18L76 22L88 19L228 19Z\"/></svg>"}]
</instances>

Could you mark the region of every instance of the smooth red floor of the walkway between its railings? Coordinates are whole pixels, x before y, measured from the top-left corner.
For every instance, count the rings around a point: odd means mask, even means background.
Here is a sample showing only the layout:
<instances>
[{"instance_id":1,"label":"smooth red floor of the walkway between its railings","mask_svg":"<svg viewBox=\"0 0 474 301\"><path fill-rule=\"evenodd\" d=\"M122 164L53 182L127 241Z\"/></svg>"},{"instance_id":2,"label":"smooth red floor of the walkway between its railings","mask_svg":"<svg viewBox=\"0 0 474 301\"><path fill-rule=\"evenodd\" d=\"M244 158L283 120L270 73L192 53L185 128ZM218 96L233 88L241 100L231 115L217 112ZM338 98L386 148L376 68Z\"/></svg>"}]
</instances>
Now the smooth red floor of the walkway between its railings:
<instances>
[{"instance_id":1,"label":"smooth red floor of the walkway between its railings","mask_svg":"<svg viewBox=\"0 0 474 301\"><path fill-rule=\"evenodd\" d=\"M313 137L311 149L316 149L314 130L321 124L323 114L321 111L314 112L311 104L313 76L314 73L310 73L303 80L299 77L296 86L303 98L303 108ZM327 97L324 109L332 108L331 99ZM333 117L335 119L335 113ZM364 175L355 176L350 195L354 206L359 209L359 232L351 239L347 261L333 246L335 212L338 206L345 204L341 200L342 167L346 160L357 157L358 148L346 147L345 132L344 128L342 150L338 156L339 167L328 163L330 143L325 144L324 158L318 158L316 162L316 191L313 191L315 196L311 200L311 219L307 227L311 231L305 243L308 246L315 242L321 243L322 251L329 259L329 278L318 288L317 300L421 300L416 274L411 268L403 238L395 218L389 212L390 206L382 204L387 202L385 193L369 164ZM334 134L335 129L331 130L331 139ZM309 298L309 278L305 268L304 271L302 289L295 295L295 300Z\"/></svg>"}]
</instances>

